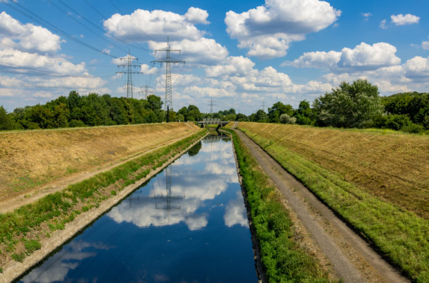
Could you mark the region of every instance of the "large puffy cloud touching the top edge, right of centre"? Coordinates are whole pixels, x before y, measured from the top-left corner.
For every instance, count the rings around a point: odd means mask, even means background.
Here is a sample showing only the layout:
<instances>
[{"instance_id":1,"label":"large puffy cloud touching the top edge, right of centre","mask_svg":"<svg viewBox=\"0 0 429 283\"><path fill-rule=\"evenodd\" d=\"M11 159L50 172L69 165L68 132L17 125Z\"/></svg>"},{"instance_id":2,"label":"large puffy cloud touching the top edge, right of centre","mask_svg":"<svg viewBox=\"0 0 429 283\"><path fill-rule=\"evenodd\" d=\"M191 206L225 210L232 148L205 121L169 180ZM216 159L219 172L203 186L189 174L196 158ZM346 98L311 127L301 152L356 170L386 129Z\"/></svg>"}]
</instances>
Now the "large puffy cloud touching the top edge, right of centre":
<instances>
[{"instance_id":1,"label":"large puffy cloud touching the top edge, right of centre","mask_svg":"<svg viewBox=\"0 0 429 283\"><path fill-rule=\"evenodd\" d=\"M319 0L266 0L264 6L238 14L226 13L226 31L248 48L248 56L273 58L286 55L292 41L303 40L334 23L341 11Z\"/></svg>"}]
</instances>

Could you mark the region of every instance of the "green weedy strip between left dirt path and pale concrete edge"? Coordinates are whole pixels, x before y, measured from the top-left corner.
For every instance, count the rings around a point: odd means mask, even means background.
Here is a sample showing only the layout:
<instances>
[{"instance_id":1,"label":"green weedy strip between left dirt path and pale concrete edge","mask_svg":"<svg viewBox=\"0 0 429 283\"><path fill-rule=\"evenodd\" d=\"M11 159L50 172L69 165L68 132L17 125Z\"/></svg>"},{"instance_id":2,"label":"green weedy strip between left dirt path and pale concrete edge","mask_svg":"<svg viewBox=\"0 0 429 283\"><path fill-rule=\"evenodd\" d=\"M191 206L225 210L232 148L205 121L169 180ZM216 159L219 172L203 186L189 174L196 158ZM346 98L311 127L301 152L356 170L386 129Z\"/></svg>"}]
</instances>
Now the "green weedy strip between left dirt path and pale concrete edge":
<instances>
[{"instance_id":1,"label":"green weedy strip between left dirt path and pale concrete edge","mask_svg":"<svg viewBox=\"0 0 429 283\"><path fill-rule=\"evenodd\" d=\"M22 262L26 255L41 248L41 243L51 237L51 233L66 228L76 215L100 206L102 201L163 166L203 135L206 130L71 184L63 191L46 195L11 213L0 214L0 267L10 259Z\"/></svg>"}]
</instances>

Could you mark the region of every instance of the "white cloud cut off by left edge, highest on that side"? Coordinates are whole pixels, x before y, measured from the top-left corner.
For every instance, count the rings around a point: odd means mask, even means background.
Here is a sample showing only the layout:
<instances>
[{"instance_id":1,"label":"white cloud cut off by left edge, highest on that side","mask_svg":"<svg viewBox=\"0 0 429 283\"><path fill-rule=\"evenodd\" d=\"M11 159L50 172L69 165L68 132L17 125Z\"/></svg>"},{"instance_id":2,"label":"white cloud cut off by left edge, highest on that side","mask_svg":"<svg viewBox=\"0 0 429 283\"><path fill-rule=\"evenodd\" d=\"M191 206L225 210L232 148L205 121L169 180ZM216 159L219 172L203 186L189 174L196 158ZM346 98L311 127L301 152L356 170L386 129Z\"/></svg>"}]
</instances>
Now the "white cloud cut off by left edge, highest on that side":
<instances>
[{"instance_id":1,"label":"white cloud cut off by left edge, highest on that side","mask_svg":"<svg viewBox=\"0 0 429 283\"><path fill-rule=\"evenodd\" d=\"M6 12L0 13L0 37L2 43L34 52L56 52L61 39L46 28L32 23L22 24Z\"/></svg>"}]
</instances>

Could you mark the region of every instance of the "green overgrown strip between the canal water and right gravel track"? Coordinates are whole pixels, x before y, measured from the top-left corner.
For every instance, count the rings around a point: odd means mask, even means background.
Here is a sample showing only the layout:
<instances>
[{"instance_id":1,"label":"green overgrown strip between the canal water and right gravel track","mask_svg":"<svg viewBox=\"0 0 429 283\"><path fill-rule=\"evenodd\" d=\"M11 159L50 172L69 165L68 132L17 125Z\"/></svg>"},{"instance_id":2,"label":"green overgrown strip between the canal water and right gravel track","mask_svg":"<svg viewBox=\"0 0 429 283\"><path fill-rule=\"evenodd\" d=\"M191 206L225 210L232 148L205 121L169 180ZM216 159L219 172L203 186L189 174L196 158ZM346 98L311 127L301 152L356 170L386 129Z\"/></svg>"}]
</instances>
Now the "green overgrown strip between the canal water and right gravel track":
<instances>
[{"instance_id":1,"label":"green overgrown strip between the canal water and right gravel track","mask_svg":"<svg viewBox=\"0 0 429 283\"><path fill-rule=\"evenodd\" d=\"M269 282L329 282L318 260L293 242L291 218L248 148L232 130L246 201Z\"/></svg>"}]
</instances>

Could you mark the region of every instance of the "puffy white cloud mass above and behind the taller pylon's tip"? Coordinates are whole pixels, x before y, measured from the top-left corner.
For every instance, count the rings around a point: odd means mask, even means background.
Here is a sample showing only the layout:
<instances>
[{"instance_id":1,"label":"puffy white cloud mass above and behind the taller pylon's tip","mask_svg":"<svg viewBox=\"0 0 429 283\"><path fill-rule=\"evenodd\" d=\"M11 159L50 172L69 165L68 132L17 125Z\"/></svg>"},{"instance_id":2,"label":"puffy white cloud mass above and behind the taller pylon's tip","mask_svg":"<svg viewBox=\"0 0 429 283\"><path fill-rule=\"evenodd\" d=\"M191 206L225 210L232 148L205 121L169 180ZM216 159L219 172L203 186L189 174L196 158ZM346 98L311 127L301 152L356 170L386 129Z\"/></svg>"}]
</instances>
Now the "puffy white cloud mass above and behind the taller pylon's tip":
<instances>
[{"instance_id":1,"label":"puffy white cloud mass above and behind the taller pylon's tip","mask_svg":"<svg viewBox=\"0 0 429 283\"><path fill-rule=\"evenodd\" d=\"M208 24L208 12L191 7L185 14L163 10L135 10L131 14L113 14L104 21L107 32L124 41L144 41L152 50L170 47L181 50L180 59L191 64L217 64L228 56L228 50L214 39L204 37L206 32L195 24ZM161 56L161 55L160 55ZM178 56L172 52L172 57Z\"/></svg>"}]
</instances>

